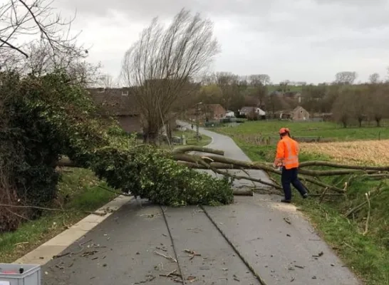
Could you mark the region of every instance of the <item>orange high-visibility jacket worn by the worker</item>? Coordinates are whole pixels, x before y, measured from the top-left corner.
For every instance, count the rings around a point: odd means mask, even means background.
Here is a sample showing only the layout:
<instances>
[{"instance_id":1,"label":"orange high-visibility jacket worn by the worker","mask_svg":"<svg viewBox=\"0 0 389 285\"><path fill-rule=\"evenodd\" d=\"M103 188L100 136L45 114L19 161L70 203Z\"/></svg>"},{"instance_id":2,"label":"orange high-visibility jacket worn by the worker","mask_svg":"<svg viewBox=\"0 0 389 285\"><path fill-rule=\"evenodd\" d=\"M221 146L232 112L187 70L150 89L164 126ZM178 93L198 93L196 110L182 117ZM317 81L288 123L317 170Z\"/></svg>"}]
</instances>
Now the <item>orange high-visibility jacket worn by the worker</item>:
<instances>
[{"instance_id":1,"label":"orange high-visibility jacket worn by the worker","mask_svg":"<svg viewBox=\"0 0 389 285\"><path fill-rule=\"evenodd\" d=\"M283 165L287 170L299 167L299 143L287 135L277 144L275 165Z\"/></svg>"}]
</instances>

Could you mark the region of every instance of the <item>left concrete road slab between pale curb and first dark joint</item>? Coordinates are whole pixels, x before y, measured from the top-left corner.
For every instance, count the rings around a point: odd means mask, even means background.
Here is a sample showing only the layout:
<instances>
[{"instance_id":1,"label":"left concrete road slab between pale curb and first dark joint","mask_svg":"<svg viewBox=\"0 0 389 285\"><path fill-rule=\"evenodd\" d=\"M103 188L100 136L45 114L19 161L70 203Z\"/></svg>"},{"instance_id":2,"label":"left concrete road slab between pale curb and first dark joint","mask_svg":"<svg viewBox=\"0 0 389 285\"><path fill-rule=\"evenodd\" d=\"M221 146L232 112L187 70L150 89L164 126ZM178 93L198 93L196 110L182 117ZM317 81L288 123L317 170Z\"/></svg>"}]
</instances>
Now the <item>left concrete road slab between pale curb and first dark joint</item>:
<instances>
[{"instance_id":1,"label":"left concrete road slab between pale curb and first dark joint","mask_svg":"<svg viewBox=\"0 0 389 285\"><path fill-rule=\"evenodd\" d=\"M83 244L85 243L85 244ZM80 246L81 244L81 246ZM44 285L177 284L177 263L159 206L133 200L42 267ZM46 273L47 274L46 274Z\"/></svg>"}]
</instances>

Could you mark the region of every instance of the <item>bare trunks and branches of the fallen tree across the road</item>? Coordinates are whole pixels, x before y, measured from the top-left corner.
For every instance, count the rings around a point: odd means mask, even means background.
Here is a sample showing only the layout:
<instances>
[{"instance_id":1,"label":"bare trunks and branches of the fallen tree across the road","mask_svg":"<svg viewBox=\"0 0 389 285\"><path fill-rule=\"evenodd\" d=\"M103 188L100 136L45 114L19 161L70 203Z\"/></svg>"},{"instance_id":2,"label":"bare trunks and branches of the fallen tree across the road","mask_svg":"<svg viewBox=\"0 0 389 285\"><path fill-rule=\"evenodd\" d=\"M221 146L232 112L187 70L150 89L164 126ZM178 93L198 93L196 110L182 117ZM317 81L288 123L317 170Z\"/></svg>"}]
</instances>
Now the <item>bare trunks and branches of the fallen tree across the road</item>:
<instances>
[{"instance_id":1,"label":"bare trunks and branches of the fallen tree across the road","mask_svg":"<svg viewBox=\"0 0 389 285\"><path fill-rule=\"evenodd\" d=\"M188 153L192 152L192 153ZM194 152L194 153L193 153ZM197 147L197 146L187 146L187 147L177 147L174 150L165 151L167 157L175 160L178 165L183 165L191 169L196 170L211 170L215 174L224 175L226 177L231 177L233 180L249 180L252 182L257 182L265 187L271 189L281 190L281 185L278 185L274 180L269 182L262 180L260 178L251 177L246 170L263 170L265 172L271 172L277 175L281 175L281 172L277 169L274 169L271 163L266 162L247 162L242 160L234 160L229 157L224 157L224 152L222 150L214 150L209 147ZM71 162L70 160L63 159L58 162L59 167L79 167L76 163ZM333 167L341 168L341 170L308 170L307 167ZM237 175L228 170L242 170L246 175ZM302 181L309 182L313 185L323 188L326 190L326 195L331 196L333 193L328 192L332 190L338 194L344 194L346 188L338 187L336 185L328 185L326 182L320 180L320 177L326 176L335 176L335 175L356 175L358 177L371 177L372 179L383 179L388 177L387 171L389 167L381 166L361 166L361 165L343 165L339 163L326 162L326 161L307 161L301 162L299 169L299 177ZM259 187L258 185L254 185ZM263 190L263 189L262 189ZM237 193L236 195L242 195L242 193ZM251 195L247 192L247 195Z\"/></svg>"}]
</instances>

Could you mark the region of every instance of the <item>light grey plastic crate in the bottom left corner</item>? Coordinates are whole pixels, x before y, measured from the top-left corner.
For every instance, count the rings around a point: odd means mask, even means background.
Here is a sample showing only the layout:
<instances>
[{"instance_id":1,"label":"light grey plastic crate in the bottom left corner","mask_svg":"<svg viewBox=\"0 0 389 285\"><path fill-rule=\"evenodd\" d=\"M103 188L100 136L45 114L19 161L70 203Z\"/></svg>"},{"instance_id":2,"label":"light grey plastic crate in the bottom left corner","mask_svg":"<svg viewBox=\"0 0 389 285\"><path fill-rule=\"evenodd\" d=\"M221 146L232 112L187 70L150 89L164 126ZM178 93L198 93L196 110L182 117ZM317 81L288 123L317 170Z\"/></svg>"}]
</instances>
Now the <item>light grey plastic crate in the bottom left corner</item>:
<instances>
[{"instance_id":1,"label":"light grey plastic crate in the bottom left corner","mask_svg":"<svg viewBox=\"0 0 389 285\"><path fill-rule=\"evenodd\" d=\"M19 269L23 268L22 274ZM41 285L41 266L0 264L0 285Z\"/></svg>"}]
</instances>

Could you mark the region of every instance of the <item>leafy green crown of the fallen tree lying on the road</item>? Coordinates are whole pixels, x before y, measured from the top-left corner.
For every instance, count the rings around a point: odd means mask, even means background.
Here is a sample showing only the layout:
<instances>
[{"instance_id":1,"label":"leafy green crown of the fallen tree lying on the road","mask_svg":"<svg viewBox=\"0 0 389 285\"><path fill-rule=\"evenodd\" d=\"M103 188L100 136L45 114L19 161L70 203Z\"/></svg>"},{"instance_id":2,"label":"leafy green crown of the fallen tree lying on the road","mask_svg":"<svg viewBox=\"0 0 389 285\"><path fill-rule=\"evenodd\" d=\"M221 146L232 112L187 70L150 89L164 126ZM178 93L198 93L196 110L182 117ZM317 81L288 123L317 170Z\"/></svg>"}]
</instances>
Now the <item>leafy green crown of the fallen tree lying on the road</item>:
<instances>
[{"instance_id":1,"label":"leafy green crown of the fallen tree lying on the road","mask_svg":"<svg viewBox=\"0 0 389 285\"><path fill-rule=\"evenodd\" d=\"M229 204L231 181L177 165L168 152L151 146L122 149L103 147L95 152L93 170L111 187L170 206Z\"/></svg>"}]
</instances>

